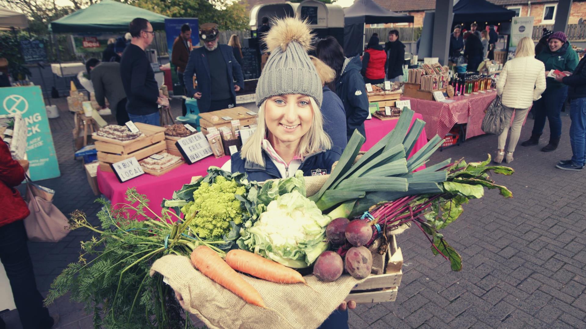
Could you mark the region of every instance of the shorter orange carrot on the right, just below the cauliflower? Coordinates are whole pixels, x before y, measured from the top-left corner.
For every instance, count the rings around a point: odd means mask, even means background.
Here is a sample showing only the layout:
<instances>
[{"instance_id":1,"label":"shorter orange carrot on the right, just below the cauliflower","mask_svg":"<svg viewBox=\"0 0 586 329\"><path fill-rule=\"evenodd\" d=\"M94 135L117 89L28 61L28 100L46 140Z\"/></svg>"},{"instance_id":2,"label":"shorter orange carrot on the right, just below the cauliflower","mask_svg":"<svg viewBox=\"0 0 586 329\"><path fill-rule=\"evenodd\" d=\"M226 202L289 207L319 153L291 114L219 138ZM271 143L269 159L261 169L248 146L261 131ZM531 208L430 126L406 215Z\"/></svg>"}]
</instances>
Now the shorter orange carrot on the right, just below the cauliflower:
<instances>
[{"instance_id":1,"label":"shorter orange carrot on the right, just below the cauliflower","mask_svg":"<svg viewBox=\"0 0 586 329\"><path fill-rule=\"evenodd\" d=\"M271 282L305 283L303 276L296 270L246 250L229 251L226 255L226 263L235 270Z\"/></svg>"}]
</instances>

